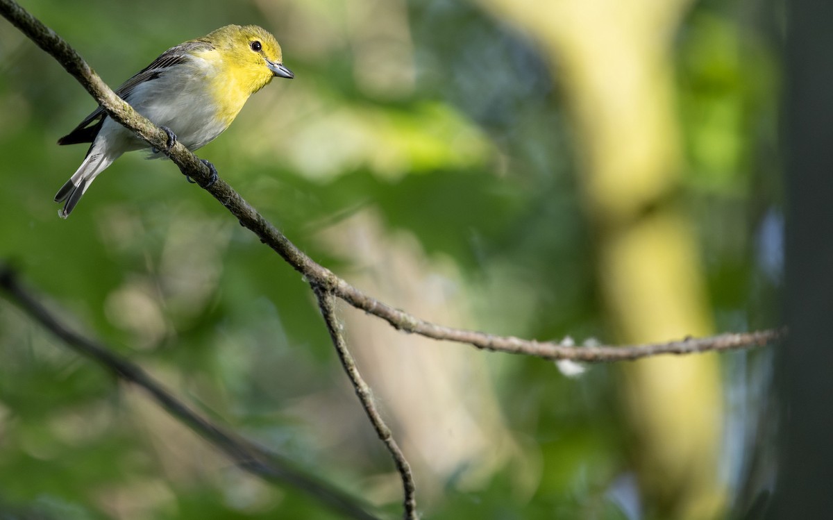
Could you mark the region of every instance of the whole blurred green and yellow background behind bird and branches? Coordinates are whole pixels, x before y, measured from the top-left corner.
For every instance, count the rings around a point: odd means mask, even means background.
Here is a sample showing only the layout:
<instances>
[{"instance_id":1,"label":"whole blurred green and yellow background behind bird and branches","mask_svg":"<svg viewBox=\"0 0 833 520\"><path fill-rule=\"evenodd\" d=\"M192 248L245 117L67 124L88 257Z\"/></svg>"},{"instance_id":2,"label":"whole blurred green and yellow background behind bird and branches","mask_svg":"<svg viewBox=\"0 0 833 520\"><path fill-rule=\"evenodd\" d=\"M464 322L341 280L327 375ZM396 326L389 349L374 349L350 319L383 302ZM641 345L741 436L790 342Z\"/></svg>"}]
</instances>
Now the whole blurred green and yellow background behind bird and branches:
<instances>
[{"instance_id":1,"label":"whole blurred green and yellow background behind bird and branches","mask_svg":"<svg viewBox=\"0 0 833 520\"><path fill-rule=\"evenodd\" d=\"M257 23L296 73L198 151L319 263L438 323L576 344L778 322L783 2L23 6L116 87ZM0 20L0 258L194 407L400 514L300 276L172 163L52 196L94 102ZM771 352L557 366L340 308L434 518L741 517L771 488ZM578 372L578 373L576 373ZM234 468L0 300L0 516L339 517Z\"/></svg>"}]
</instances>

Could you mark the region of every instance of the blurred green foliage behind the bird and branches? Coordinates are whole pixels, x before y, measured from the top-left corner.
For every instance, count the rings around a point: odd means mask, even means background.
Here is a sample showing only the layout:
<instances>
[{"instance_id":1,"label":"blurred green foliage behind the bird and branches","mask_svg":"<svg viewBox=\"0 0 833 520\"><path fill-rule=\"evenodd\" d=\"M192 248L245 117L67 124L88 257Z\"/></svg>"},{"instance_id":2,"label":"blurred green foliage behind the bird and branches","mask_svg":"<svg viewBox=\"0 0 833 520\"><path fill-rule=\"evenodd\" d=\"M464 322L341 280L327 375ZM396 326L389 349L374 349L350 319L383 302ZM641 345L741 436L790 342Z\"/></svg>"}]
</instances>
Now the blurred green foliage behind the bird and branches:
<instances>
[{"instance_id":1,"label":"blurred green foliage behind the bird and branches","mask_svg":"<svg viewBox=\"0 0 833 520\"><path fill-rule=\"evenodd\" d=\"M112 86L226 23L272 29L297 78L252 97L200 157L348 279L357 266L320 232L372 210L387 233L407 233L426 258L459 269L479 328L609 339L557 71L474 4L394 4L377 16L400 30L380 29L374 43L368 28L384 24L369 14L373 2L23 2ZM772 239L756 233L778 214L780 189L771 180L777 32L760 4L696 5L676 48L684 197L721 329L771 323L779 282L756 256L756 240ZM300 275L171 163L138 153L109 168L71 218L57 218L52 196L85 150L55 141L94 102L5 21L0 57L0 258L74 327L174 393L396 517L396 478L369 428L333 446L316 429L327 418L309 419L361 411ZM616 369L567 379L536 359L488 363L526 462L475 488L449 476L425 516L625 518ZM0 301L0 517L337 517L217 455L202 467L195 453L210 448L134 394ZM305 408L310 396L335 394L331 409Z\"/></svg>"}]
</instances>

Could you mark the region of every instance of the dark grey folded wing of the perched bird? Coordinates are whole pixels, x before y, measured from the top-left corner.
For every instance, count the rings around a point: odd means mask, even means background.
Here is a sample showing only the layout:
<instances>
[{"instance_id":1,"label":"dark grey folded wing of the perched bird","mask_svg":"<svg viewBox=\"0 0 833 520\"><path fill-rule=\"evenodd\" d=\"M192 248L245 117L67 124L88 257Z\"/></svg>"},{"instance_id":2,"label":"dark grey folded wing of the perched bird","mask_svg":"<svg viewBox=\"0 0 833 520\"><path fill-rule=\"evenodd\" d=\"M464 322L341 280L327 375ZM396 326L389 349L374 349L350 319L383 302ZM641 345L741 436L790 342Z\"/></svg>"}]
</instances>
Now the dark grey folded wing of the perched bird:
<instances>
[{"instance_id":1,"label":"dark grey folded wing of the perched bird","mask_svg":"<svg viewBox=\"0 0 833 520\"><path fill-rule=\"evenodd\" d=\"M185 62L191 57L189 52L195 50L209 50L214 48L211 43L203 42L201 40L192 40L190 42L180 43L176 47L171 47L167 51L162 52L150 65L142 68L133 77L123 82L120 87L116 89L116 95L125 101L128 101L130 93L137 87L137 85L153 81L168 68L177 65L177 63ZM102 107L97 107L90 115L78 124L78 126L67 133L67 135L57 140L58 144L77 144L77 143L92 143L101 130L104 124L104 118L107 117L107 112L104 112Z\"/></svg>"}]
</instances>

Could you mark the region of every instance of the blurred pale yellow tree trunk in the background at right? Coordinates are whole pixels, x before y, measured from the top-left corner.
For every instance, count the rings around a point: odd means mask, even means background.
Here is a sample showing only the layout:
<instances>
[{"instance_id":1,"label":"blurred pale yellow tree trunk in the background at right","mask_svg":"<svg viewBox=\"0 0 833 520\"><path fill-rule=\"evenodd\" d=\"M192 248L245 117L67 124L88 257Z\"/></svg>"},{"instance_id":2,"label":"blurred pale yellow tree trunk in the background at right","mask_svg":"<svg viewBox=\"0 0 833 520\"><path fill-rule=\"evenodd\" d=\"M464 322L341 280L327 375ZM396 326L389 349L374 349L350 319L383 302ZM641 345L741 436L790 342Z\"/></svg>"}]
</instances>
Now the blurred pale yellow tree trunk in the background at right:
<instances>
[{"instance_id":1,"label":"blurred pale yellow tree trunk in the background at right","mask_svg":"<svg viewBox=\"0 0 833 520\"><path fill-rule=\"evenodd\" d=\"M689 0L481 0L551 62L576 128L602 294L623 343L711 333L695 234L673 201L681 131L671 39ZM721 515L717 358L631 363L624 397L651 517Z\"/></svg>"}]
</instances>

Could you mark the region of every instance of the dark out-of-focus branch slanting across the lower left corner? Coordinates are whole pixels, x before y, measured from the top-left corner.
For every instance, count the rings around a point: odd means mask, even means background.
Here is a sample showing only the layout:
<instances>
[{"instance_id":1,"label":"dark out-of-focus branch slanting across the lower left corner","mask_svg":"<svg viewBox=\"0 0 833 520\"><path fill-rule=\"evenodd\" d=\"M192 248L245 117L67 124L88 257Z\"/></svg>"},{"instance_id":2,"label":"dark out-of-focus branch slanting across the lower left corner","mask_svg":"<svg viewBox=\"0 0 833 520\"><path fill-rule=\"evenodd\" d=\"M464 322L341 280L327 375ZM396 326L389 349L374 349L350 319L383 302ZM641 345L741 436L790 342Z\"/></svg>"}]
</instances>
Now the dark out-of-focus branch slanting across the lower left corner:
<instances>
[{"instance_id":1,"label":"dark out-of-focus branch slanting across the lower left corner","mask_svg":"<svg viewBox=\"0 0 833 520\"><path fill-rule=\"evenodd\" d=\"M67 328L53 313L24 288L17 280L12 268L0 264L0 288L7 298L16 303L19 308L40 323L49 332L61 339L68 348L92 359L92 361L107 368L117 378L123 379L137 387L144 389L167 413L170 413L188 428L212 443L232 459L237 467L248 473L267 480L291 485L301 489L313 498L327 504L337 512L347 517L359 520L374 520L377 517L364 510L355 498L349 497L332 486L322 483L317 478L293 468L292 463L277 453L272 453L255 443L227 433L222 428L202 418L185 403L173 397L161 384L157 383L147 372L136 364L123 358L101 343L85 338L79 333Z\"/></svg>"}]
</instances>

